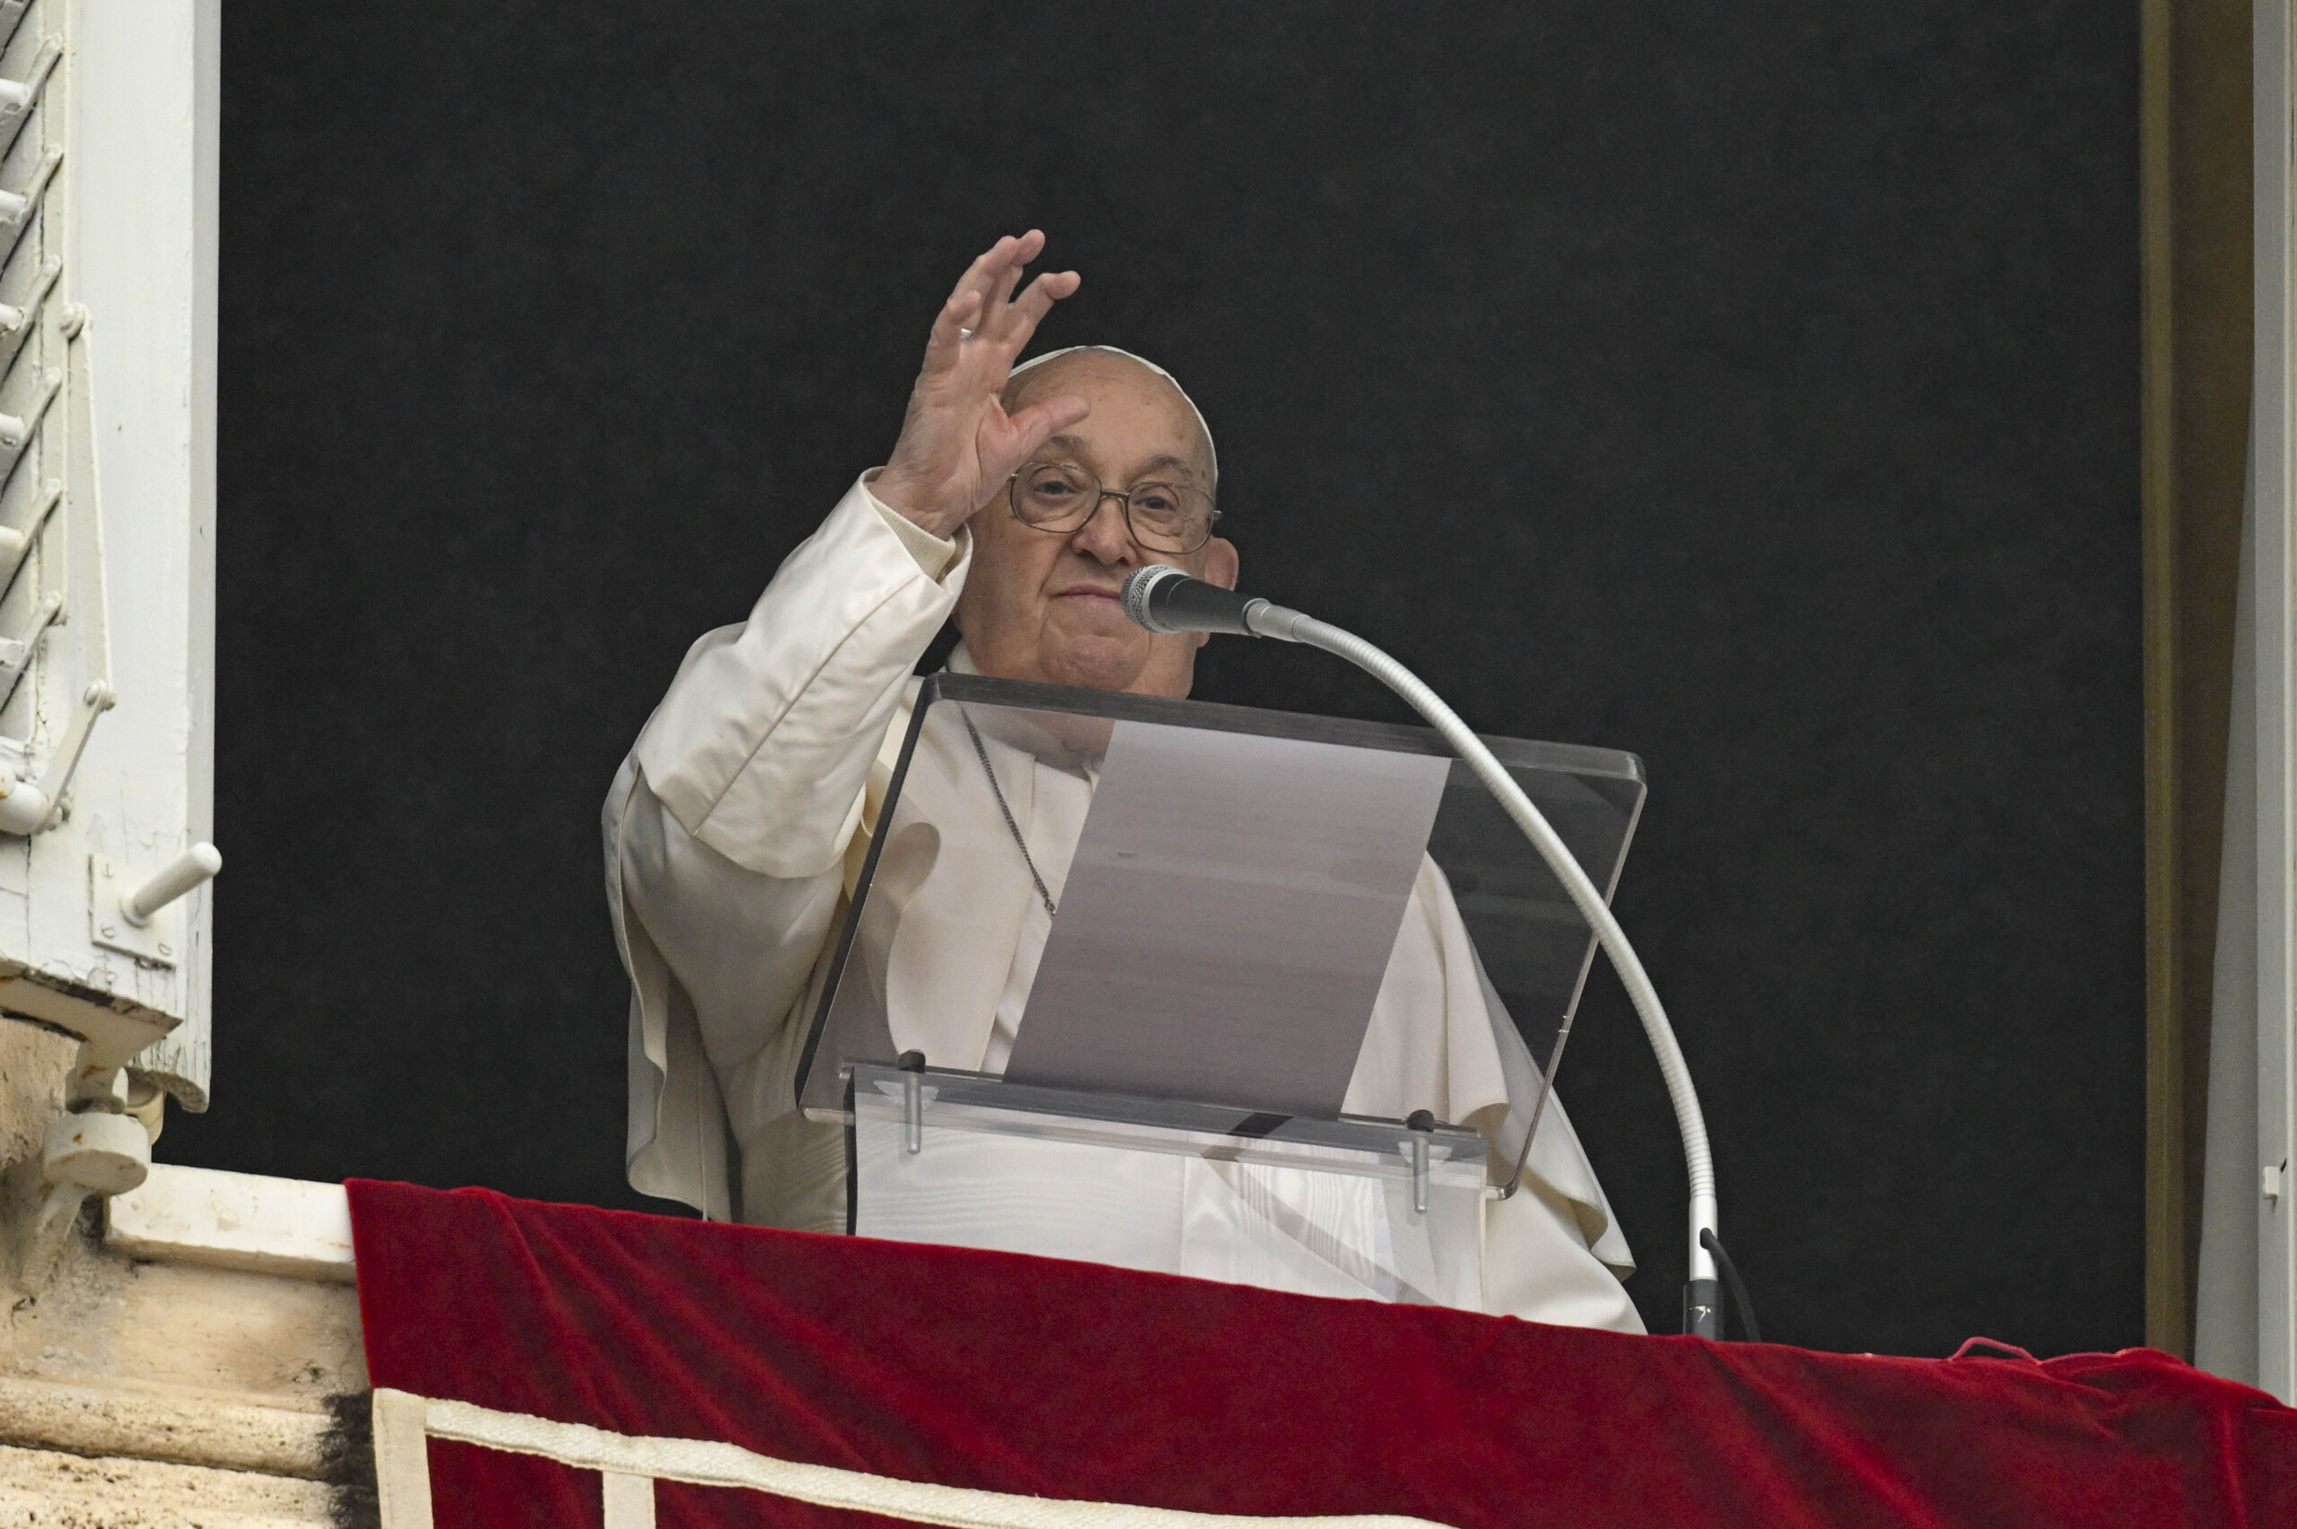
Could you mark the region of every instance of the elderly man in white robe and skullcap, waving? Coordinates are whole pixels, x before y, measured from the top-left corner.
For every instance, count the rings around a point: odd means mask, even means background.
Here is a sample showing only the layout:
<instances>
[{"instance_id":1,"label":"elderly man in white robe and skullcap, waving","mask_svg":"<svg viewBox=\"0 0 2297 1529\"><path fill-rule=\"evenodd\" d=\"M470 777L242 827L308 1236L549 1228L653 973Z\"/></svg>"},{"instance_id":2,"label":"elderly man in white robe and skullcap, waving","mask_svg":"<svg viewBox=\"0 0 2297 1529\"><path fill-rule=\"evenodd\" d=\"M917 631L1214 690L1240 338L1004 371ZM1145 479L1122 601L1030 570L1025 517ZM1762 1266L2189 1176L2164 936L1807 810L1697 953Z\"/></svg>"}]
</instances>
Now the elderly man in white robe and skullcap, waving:
<instances>
[{"instance_id":1,"label":"elderly man in white robe and skullcap, waving","mask_svg":"<svg viewBox=\"0 0 2297 1529\"><path fill-rule=\"evenodd\" d=\"M613 781L606 895L632 980L627 1162L641 1194L845 1231L843 1132L799 1111L795 1072L910 725L912 670L942 624L962 636L958 673L1178 698L1206 638L1130 622L1126 574L1169 562L1236 585L1238 553L1211 535L1211 432L1178 383L1100 347L1015 365L1080 285L1061 271L1022 287L1041 250L1038 232L1006 236L965 271L887 464L783 560L747 622L694 643ZM1013 482L1034 466L1082 487L1066 514L1024 514ZM944 934L912 955L935 1001L896 992L889 1026L937 1065L1001 1072L1093 774L988 748L1013 863L937 863L912 895L905 925L930 930L942 909ZM912 794L930 797L919 771L935 767L912 764ZM1534 1088L1429 861L1346 1111L1470 1125L1505 1178ZM1560 1104L1521 1192L1484 1205L1486 1311L1642 1332L1619 1283L1626 1242Z\"/></svg>"}]
</instances>

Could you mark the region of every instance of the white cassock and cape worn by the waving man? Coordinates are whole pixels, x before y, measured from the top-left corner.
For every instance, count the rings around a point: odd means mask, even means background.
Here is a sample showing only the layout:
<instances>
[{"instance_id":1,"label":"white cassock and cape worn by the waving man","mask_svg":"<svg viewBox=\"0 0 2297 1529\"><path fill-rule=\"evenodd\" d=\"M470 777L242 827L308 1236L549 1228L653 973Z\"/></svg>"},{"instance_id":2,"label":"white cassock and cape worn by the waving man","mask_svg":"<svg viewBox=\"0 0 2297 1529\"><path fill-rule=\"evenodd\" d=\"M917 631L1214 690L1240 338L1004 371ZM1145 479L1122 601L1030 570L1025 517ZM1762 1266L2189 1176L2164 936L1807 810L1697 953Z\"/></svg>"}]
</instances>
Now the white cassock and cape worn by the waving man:
<instances>
[{"instance_id":1,"label":"white cassock and cape worn by the waving man","mask_svg":"<svg viewBox=\"0 0 2297 1529\"><path fill-rule=\"evenodd\" d=\"M763 1226L843 1231L843 1132L797 1111L797 1056L910 725L912 668L969 560L969 533L933 537L857 482L744 624L694 643L616 776L606 902L632 983L627 1157L641 1194L717 1219L740 1205ZM969 668L962 647L951 668ZM1059 900L1091 774L995 732L985 746ZM956 790L965 762L979 771L979 760L914 760L905 790L917 801ZM1001 1070L1047 928L1018 849L937 861L887 971L896 1045L935 1065ZM1346 1109L1429 1109L1516 1148L1525 1118L1509 1100L1528 1102L1534 1079L1443 875L1424 863ZM1642 1332L1619 1286L1631 1267L1550 1104L1523 1189L1486 1201L1484 1304Z\"/></svg>"}]
</instances>

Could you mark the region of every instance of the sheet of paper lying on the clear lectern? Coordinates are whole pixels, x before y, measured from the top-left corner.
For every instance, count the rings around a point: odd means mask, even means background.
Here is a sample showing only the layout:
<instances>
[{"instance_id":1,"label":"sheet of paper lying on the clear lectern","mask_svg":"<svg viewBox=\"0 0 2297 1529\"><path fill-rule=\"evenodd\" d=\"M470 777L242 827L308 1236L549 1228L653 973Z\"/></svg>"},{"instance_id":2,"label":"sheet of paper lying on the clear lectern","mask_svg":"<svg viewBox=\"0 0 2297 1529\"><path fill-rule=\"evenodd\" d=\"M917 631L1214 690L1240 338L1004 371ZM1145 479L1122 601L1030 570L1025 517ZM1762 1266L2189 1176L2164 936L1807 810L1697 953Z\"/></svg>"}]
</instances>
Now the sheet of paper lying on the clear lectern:
<instances>
[{"instance_id":1,"label":"sheet of paper lying on the clear lectern","mask_svg":"<svg viewBox=\"0 0 2297 1529\"><path fill-rule=\"evenodd\" d=\"M1116 723L1006 1077L1337 1116L1447 774Z\"/></svg>"}]
</instances>

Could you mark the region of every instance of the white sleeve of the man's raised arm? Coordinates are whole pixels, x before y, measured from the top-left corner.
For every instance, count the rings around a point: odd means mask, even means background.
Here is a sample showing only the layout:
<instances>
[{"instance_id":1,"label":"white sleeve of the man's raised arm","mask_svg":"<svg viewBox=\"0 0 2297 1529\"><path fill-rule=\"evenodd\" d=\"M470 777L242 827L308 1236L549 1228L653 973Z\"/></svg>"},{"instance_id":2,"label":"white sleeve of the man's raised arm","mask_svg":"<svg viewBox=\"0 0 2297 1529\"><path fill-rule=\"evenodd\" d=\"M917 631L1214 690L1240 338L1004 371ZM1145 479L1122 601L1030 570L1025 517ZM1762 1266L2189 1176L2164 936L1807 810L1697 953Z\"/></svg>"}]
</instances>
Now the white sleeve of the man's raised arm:
<instances>
[{"instance_id":1,"label":"white sleeve of the man's raised arm","mask_svg":"<svg viewBox=\"0 0 2297 1529\"><path fill-rule=\"evenodd\" d=\"M749 622L694 645L606 799L629 1180L712 1217L730 1205L728 1123L749 1136L790 1109L786 1070L751 1063L790 1047L871 764L965 585L967 533L896 521L857 482Z\"/></svg>"}]
</instances>

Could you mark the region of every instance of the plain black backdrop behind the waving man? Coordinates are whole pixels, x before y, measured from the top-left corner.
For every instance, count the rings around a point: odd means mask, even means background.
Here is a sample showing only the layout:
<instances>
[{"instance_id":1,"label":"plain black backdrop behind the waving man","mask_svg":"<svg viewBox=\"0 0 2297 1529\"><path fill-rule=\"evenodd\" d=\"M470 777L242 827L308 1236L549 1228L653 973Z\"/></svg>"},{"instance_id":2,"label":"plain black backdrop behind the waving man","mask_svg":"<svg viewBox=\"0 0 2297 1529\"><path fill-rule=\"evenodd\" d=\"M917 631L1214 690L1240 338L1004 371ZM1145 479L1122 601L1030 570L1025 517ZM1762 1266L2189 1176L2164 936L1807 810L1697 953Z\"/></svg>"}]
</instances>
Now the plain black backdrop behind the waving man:
<instances>
[{"instance_id":1,"label":"plain black backdrop behind the waving man","mask_svg":"<svg viewBox=\"0 0 2297 1529\"><path fill-rule=\"evenodd\" d=\"M1645 755L1619 909L1773 1336L2141 1336L2136 7L225 7L216 1107L636 1205L597 804L997 232L1245 579ZM1215 643L1199 693L1399 716ZM1677 1320L1617 985L1564 1091Z\"/></svg>"}]
</instances>

